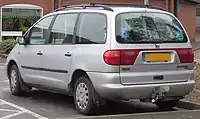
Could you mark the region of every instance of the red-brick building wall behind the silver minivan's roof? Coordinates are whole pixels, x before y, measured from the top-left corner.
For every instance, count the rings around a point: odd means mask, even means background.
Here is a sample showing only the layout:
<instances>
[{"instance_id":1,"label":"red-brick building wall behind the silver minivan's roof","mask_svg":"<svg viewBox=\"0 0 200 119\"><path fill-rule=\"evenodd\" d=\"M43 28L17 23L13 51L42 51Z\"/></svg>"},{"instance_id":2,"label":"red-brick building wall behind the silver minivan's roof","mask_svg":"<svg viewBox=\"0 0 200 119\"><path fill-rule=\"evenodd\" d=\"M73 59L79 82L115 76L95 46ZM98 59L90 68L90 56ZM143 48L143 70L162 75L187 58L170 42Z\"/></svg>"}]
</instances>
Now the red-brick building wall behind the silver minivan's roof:
<instances>
[{"instance_id":1,"label":"red-brick building wall behind the silver minivan's roof","mask_svg":"<svg viewBox=\"0 0 200 119\"><path fill-rule=\"evenodd\" d=\"M82 4L89 2L102 2L102 3L134 3L143 4L144 0L58 0L59 6L70 4ZM171 0L149 0L150 4L160 6L166 9L170 8ZM47 14L53 10L53 0L0 0L0 6L8 4L33 4L41 6L44 10L44 14ZM195 39L196 28L196 5L190 3L181 2L180 12L178 18L183 23L190 39Z\"/></svg>"}]
</instances>

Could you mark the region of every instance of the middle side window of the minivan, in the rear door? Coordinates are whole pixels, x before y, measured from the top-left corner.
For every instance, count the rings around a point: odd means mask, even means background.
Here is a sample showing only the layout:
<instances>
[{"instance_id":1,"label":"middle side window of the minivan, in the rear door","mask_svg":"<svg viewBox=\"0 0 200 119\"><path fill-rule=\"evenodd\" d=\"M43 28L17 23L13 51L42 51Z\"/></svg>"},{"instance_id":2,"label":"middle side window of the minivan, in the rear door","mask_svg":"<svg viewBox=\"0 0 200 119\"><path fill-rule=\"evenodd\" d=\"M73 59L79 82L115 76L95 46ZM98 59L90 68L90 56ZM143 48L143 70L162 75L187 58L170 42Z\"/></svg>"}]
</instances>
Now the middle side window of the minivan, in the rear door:
<instances>
[{"instance_id":1,"label":"middle side window of the minivan, in the rear door","mask_svg":"<svg viewBox=\"0 0 200 119\"><path fill-rule=\"evenodd\" d=\"M52 44L71 44L73 40L74 27L78 14L60 14L57 16L51 29Z\"/></svg>"}]
</instances>

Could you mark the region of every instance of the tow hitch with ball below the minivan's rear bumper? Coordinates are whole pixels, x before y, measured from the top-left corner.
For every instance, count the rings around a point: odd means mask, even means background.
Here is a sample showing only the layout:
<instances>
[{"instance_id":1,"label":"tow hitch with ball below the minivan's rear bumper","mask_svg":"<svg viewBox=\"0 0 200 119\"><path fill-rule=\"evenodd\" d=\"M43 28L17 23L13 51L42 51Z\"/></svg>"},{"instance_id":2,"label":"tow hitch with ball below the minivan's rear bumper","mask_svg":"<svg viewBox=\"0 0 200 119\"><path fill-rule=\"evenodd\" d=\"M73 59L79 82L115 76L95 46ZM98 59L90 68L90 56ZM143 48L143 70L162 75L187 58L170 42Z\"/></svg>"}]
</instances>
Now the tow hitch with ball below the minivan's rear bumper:
<instances>
[{"instance_id":1,"label":"tow hitch with ball below the minivan's rear bumper","mask_svg":"<svg viewBox=\"0 0 200 119\"><path fill-rule=\"evenodd\" d=\"M169 92L169 86L156 87L152 94L151 102L155 103L158 100L163 100L167 92Z\"/></svg>"}]
</instances>

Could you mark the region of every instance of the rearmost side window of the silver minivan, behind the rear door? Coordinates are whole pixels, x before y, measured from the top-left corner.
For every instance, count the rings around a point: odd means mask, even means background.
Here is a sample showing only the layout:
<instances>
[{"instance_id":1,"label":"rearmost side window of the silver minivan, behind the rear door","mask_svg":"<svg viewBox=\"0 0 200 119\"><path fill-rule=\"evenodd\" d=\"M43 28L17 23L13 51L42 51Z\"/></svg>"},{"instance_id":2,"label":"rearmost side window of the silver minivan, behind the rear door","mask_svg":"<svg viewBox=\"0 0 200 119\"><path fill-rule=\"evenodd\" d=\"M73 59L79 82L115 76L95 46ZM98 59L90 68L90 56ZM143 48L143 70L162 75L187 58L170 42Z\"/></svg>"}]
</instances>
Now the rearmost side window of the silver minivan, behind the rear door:
<instances>
[{"instance_id":1,"label":"rearmost side window of the silver minivan, behind the rear door","mask_svg":"<svg viewBox=\"0 0 200 119\"><path fill-rule=\"evenodd\" d=\"M107 37L106 15L82 13L76 34L76 44L104 44Z\"/></svg>"}]
</instances>

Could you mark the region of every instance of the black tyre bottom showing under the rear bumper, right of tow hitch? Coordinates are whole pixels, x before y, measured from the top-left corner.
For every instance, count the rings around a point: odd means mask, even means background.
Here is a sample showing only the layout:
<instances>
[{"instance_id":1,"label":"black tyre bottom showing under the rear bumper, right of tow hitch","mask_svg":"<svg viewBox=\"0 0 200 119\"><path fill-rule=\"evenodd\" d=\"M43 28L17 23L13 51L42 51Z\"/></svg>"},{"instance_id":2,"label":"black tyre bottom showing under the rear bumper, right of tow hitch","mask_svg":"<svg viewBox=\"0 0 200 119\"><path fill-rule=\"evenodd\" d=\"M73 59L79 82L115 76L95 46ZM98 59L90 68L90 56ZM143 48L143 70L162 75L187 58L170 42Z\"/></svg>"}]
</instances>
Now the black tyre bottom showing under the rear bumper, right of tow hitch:
<instances>
[{"instance_id":1,"label":"black tyre bottom showing under the rear bumper, right of tow hitch","mask_svg":"<svg viewBox=\"0 0 200 119\"><path fill-rule=\"evenodd\" d=\"M179 100L170 100L170 101L161 101L161 102L156 102L155 104L160 108L160 109L172 109L178 104Z\"/></svg>"}]
</instances>

